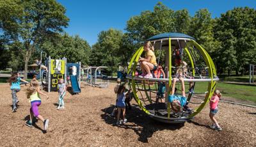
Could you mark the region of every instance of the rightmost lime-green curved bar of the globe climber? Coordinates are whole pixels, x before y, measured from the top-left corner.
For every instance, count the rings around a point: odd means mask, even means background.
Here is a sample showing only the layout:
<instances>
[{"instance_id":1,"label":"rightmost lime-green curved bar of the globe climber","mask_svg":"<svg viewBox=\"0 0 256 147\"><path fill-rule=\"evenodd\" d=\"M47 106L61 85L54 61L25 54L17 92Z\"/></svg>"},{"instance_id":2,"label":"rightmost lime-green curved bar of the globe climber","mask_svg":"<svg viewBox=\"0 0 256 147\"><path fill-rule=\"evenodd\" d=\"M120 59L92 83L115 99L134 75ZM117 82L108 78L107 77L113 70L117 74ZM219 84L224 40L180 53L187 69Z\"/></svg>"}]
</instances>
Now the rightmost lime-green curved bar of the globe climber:
<instances>
[{"instance_id":1,"label":"rightmost lime-green curved bar of the globe climber","mask_svg":"<svg viewBox=\"0 0 256 147\"><path fill-rule=\"evenodd\" d=\"M196 43L194 40L192 40L193 45L196 46L196 48L200 51L200 53L202 54L206 65L209 67L208 70L208 74L209 77L211 77L211 82L209 82L208 84L208 93L205 95L204 98L204 103L202 103L197 109L195 109L195 112L193 112L192 114L189 115L189 118L193 118L193 116L195 116L196 114L198 114L200 111L202 111L202 109L205 107L205 105L209 102L209 98L212 96L212 93L215 89L215 87L213 86L215 84L215 82L212 80L213 78L213 73L216 73L215 67L212 68L212 63L211 63L211 57L209 56L209 54L203 49L203 47L201 47L198 43ZM213 90L212 90L213 89Z\"/></svg>"}]
</instances>

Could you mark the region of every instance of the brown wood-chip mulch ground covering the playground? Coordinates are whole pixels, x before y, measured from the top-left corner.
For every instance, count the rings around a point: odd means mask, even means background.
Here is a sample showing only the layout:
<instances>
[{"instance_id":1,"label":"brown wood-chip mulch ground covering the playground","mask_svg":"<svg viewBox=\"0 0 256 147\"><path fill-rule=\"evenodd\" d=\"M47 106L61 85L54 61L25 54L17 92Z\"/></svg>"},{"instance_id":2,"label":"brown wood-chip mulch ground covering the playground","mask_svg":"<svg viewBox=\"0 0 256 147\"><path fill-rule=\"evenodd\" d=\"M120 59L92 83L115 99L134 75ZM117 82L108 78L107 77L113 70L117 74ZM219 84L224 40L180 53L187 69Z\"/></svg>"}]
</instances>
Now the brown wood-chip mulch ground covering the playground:
<instances>
[{"instance_id":1,"label":"brown wood-chip mulch ground covering the playground","mask_svg":"<svg viewBox=\"0 0 256 147\"><path fill-rule=\"evenodd\" d=\"M128 122L116 127L110 116L114 86L83 86L79 95L67 93L61 111L57 92L49 93L49 100L42 96L39 112L50 120L45 133L40 121L32 128L25 125L30 108L26 86L17 93L19 109L12 112L10 86L1 84L0 146L256 146L256 109L221 102L216 116L220 132L209 128L209 105L193 121L178 125L159 123L132 107Z\"/></svg>"}]
</instances>

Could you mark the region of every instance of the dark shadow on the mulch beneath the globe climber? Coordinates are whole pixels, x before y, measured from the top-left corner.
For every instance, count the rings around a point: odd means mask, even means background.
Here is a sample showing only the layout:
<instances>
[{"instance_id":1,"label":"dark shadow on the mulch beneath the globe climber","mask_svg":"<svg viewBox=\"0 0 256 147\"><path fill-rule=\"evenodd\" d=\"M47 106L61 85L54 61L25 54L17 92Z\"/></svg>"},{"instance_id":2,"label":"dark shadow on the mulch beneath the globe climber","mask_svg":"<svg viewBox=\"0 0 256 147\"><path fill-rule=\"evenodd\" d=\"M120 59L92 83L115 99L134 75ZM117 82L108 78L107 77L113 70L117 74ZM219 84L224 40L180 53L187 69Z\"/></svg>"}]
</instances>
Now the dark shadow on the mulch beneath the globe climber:
<instances>
[{"instance_id":1,"label":"dark shadow on the mulch beneath the globe climber","mask_svg":"<svg viewBox=\"0 0 256 147\"><path fill-rule=\"evenodd\" d=\"M116 118L111 117L111 112L114 108L115 105L111 105L110 107L101 110L104 112L104 114L101 114L102 119L109 125L115 125L116 123ZM170 125L168 123L154 121L136 107L132 107L132 110L127 111L126 118L128 123L130 122L134 124L120 125L120 127L134 130L134 132L139 135L138 141L141 141L142 143L148 143L148 138L152 137L154 132L159 130L179 130L184 127L184 123Z\"/></svg>"}]
</instances>

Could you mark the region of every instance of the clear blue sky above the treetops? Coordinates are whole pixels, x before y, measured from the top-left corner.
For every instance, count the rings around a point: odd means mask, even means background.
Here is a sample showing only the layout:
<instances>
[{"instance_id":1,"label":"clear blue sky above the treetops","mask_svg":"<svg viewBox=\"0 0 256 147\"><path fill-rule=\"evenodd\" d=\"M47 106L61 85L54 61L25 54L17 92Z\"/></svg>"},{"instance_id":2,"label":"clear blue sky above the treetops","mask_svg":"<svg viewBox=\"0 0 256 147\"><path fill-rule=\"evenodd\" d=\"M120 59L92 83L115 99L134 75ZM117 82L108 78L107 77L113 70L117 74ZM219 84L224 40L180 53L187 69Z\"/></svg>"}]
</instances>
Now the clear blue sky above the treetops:
<instances>
[{"instance_id":1,"label":"clear blue sky above the treetops","mask_svg":"<svg viewBox=\"0 0 256 147\"><path fill-rule=\"evenodd\" d=\"M113 27L124 31L127 20L142 11L153 10L157 0L57 0L65 8L70 19L65 31L69 35L79 35L90 45L97 42L100 31ZM234 7L256 8L255 0L163 0L172 10L187 9L191 16L201 8L207 8L212 17L220 17Z\"/></svg>"}]
</instances>

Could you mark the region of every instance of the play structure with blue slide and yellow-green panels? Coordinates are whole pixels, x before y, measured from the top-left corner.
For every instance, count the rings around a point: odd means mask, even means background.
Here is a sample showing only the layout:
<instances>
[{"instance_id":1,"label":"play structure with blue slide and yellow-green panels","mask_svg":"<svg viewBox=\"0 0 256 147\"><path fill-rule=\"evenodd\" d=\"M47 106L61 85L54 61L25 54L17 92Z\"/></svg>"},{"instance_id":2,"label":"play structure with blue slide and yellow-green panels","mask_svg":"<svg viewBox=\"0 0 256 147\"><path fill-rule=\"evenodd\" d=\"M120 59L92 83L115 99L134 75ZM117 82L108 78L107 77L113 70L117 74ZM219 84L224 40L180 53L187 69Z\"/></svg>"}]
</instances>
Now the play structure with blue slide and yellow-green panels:
<instances>
[{"instance_id":1,"label":"play structure with blue slide and yellow-green panels","mask_svg":"<svg viewBox=\"0 0 256 147\"><path fill-rule=\"evenodd\" d=\"M45 54L45 66L47 66L48 72L40 68L39 81L40 85L47 89L48 92L58 91L58 81L64 79L67 84L67 76L70 76L71 87L73 93L80 93L80 70L81 63L67 63L67 58L51 59L51 56L47 58L45 52L41 52L40 62L42 63L42 54ZM74 70L73 70L74 68ZM76 68L76 69L75 69Z\"/></svg>"}]
</instances>

